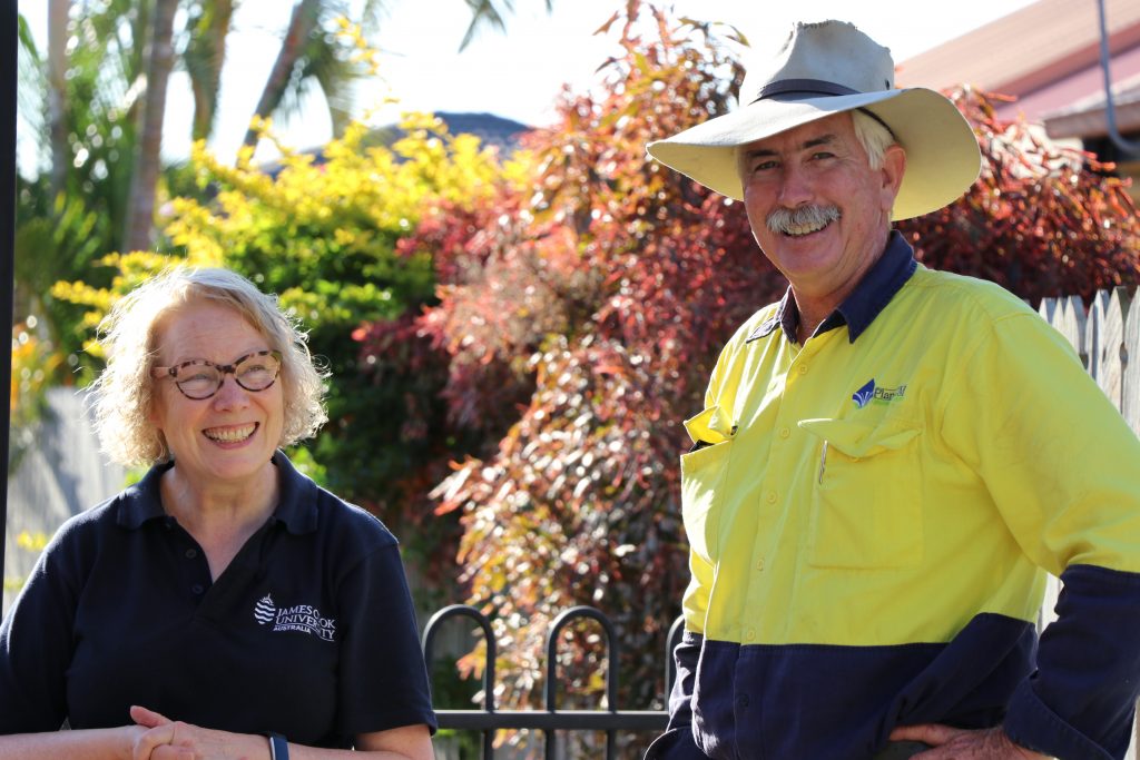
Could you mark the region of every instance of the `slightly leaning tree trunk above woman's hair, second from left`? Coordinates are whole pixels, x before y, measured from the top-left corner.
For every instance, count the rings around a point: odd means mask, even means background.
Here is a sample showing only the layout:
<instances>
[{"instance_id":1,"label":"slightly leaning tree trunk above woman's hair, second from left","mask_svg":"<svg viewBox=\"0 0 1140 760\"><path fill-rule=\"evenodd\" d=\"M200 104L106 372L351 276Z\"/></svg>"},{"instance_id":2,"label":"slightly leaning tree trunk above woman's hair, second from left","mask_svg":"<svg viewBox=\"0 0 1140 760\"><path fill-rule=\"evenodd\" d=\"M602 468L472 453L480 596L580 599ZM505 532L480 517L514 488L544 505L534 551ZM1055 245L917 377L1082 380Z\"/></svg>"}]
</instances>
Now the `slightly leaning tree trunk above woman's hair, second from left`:
<instances>
[{"instance_id":1,"label":"slightly leaning tree trunk above woman's hair, second from left","mask_svg":"<svg viewBox=\"0 0 1140 760\"><path fill-rule=\"evenodd\" d=\"M162 149L162 122L166 112L166 83L173 65L171 36L178 0L156 0L147 60L146 93L131 179L130 201L123 251L145 251L150 246L154 224L154 195L158 183Z\"/></svg>"}]
</instances>

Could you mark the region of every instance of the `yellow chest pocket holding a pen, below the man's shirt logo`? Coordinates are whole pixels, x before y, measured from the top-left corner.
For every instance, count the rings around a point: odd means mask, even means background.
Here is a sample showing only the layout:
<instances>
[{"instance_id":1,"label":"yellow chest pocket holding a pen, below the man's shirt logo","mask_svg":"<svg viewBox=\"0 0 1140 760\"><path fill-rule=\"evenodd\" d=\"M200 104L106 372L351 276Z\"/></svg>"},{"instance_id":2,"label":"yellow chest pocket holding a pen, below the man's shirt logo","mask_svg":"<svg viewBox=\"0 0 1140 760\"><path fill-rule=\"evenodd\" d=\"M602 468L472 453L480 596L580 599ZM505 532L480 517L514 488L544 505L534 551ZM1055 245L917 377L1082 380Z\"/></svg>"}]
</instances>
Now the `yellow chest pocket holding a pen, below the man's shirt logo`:
<instances>
[{"instance_id":1,"label":"yellow chest pocket holding a pen, below the man's shirt logo","mask_svg":"<svg viewBox=\"0 0 1140 760\"><path fill-rule=\"evenodd\" d=\"M808 564L898 569L922 561L921 427L887 417L869 423L805 419L819 441L812 482Z\"/></svg>"}]
</instances>

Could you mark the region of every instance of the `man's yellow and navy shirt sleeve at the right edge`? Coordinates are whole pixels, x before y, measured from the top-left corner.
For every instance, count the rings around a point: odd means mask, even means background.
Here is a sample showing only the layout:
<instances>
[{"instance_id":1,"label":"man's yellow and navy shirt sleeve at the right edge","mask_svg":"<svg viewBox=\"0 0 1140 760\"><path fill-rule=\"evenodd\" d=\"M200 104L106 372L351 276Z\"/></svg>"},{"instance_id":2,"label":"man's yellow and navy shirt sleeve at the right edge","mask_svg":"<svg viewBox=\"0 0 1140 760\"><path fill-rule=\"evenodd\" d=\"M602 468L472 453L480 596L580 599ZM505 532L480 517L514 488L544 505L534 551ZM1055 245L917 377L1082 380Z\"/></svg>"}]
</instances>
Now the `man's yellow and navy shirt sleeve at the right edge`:
<instances>
[{"instance_id":1,"label":"man's yellow and navy shirt sleeve at the right edge","mask_svg":"<svg viewBox=\"0 0 1140 760\"><path fill-rule=\"evenodd\" d=\"M1140 690L1140 440L1036 314L995 320L960 366L944 435L1064 583L1005 730L1054 757L1122 758Z\"/></svg>"}]
</instances>

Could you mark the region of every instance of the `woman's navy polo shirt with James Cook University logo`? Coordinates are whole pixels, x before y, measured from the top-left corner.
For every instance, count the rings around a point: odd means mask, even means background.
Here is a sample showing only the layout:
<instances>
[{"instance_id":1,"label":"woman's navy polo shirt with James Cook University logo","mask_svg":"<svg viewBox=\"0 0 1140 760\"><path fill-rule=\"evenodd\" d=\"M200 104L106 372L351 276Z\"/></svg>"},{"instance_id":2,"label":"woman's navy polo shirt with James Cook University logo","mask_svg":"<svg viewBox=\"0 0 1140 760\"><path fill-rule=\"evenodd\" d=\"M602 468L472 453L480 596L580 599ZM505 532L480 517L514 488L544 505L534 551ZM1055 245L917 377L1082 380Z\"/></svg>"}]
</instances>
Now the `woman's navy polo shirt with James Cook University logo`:
<instances>
[{"instance_id":1,"label":"woman's navy polo shirt with James Cook University logo","mask_svg":"<svg viewBox=\"0 0 1140 760\"><path fill-rule=\"evenodd\" d=\"M434 730L396 538L274 464L277 509L213 582L163 512L171 464L65 523L0 626L0 734L122 726L132 704L323 747Z\"/></svg>"}]
</instances>

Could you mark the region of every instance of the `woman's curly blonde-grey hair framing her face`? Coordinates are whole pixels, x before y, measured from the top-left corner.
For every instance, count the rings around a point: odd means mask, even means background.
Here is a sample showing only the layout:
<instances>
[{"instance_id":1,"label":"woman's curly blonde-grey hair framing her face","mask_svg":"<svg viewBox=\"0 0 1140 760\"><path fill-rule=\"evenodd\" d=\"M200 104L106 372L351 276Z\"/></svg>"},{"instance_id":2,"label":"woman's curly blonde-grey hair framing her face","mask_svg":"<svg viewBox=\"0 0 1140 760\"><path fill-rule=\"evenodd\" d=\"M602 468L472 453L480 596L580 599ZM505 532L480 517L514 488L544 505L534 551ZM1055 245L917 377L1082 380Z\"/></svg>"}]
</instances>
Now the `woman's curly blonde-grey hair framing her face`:
<instances>
[{"instance_id":1,"label":"woman's curly blonde-grey hair framing her face","mask_svg":"<svg viewBox=\"0 0 1140 760\"><path fill-rule=\"evenodd\" d=\"M107 363L92 386L91 407L99 442L112 460L149 466L170 458L166 441L150 422L155 400L150 368L163 321L198 300L233 309L282 353L285 419L277 446L310 438L327 422L328 373L317 367L307 334L282 311L277 297L227 269L176 267L120 299L99 324Z\"/></svg>"}]
</instances>

